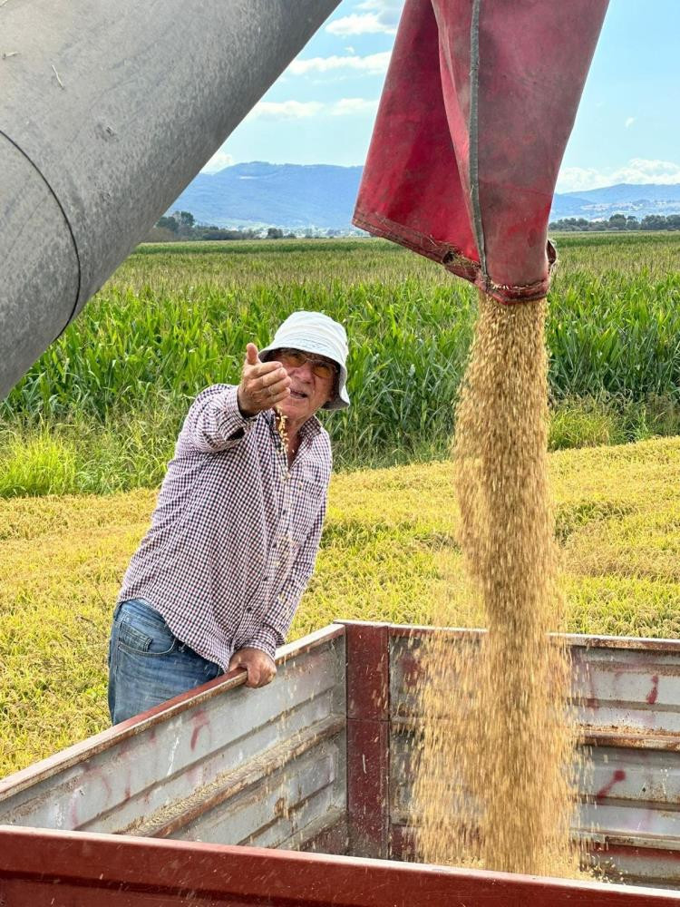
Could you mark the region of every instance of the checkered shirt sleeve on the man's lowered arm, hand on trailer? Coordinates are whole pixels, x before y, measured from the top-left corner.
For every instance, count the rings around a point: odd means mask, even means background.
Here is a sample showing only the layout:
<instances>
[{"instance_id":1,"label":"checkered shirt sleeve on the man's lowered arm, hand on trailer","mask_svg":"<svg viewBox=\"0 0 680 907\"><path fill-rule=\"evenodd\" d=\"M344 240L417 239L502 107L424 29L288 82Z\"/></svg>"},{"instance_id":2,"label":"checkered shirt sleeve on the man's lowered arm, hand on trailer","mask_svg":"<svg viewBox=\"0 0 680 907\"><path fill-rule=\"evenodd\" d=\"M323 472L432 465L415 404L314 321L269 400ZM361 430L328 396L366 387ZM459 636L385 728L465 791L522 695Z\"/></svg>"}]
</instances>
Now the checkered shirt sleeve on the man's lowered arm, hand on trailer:
<instances>
[{"instance_id":1,"label":"checkered shirt sleeve on the man's lowered arm, hand on trailer","mask_svg":"<svg viewBox=\"0 0 680 907\"><path fill-rule=\"evenodd\" d=\"M283 645L290 625L293 622L297 606L300 603L307 583L314 573L316 555L321 541L321 532L324 528L325 510L327 503L327 490L324 501L316 515L316 520L297 552L286 585L278 595L278 600L272 613L262 621L257 633L244 642L243 646L251 649L262 649L267 655L274 658L277 646Z\"/></svg>"}]
</instances>

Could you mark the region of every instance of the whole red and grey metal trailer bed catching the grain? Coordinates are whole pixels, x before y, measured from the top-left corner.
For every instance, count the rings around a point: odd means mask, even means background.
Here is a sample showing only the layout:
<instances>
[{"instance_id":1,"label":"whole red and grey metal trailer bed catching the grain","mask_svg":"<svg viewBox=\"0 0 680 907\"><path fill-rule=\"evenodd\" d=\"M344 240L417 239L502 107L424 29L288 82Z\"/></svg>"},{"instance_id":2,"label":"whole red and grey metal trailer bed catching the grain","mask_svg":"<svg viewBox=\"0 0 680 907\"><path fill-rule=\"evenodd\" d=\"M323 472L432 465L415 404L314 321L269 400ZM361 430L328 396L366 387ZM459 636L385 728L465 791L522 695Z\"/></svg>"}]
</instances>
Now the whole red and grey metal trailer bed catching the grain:
<instances>
[{"instance_id":1,"label":"whole red and grey metal trailer bed catching the grain","mask_svg":"<svg viewBox=\"0 0 680 907\"><path fill-rule=\"evenodd\" d=\"M6 777L0 905L680 905L680 643L568 638L592 762L574 832L597 825L622 886L404 862L430 632L331 625L266 688L232 672Z\"/></svg>"}]
</instances>

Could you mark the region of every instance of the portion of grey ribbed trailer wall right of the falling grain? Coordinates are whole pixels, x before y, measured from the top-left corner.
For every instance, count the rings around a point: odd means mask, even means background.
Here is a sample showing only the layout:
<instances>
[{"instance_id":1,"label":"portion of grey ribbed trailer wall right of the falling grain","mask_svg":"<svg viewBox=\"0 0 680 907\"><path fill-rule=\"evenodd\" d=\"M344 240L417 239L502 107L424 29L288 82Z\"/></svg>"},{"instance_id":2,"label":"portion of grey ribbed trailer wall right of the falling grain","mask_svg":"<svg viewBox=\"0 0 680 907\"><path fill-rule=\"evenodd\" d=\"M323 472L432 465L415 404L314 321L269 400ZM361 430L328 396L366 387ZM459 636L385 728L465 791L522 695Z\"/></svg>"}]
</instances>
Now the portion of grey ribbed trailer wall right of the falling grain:
<instances>
[{"instance_id":1,"label":"portion of grey ribbed trailer wall right of the falling grain","mask_svg":"<svg viewBox=\"0 0 680 907\"><path fill-rule=\"evenodd\" d=\"M628 882L678 888L680 644L577 638L572 653L588 746L581 834Z\"/></svg>"}]
</instances>

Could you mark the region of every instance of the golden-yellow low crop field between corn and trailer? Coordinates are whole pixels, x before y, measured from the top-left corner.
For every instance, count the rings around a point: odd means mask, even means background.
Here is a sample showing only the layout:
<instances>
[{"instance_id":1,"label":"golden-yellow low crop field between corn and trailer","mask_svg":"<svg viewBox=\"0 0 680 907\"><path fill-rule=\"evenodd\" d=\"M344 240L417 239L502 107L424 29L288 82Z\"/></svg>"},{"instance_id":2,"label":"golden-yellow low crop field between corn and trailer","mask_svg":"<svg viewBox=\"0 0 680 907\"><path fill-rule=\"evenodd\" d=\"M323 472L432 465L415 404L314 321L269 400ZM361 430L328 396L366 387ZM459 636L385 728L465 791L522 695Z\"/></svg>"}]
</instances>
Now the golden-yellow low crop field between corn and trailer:
<instances>
[{"instance_id":1,"label":"golden-yellow low crop field between corn and trailer","mask_svg":"<svg viewBox=\"0 0 680 907\"><path fill-rule=\"evenodd\" d=\"M680 438L550 455L568 629L680 635ZM0 775L106 727L113 602L156 493L0 501ZM479 626L451 463L336 475L292 638L337 618Z\"/></svg>"}]
</instances>

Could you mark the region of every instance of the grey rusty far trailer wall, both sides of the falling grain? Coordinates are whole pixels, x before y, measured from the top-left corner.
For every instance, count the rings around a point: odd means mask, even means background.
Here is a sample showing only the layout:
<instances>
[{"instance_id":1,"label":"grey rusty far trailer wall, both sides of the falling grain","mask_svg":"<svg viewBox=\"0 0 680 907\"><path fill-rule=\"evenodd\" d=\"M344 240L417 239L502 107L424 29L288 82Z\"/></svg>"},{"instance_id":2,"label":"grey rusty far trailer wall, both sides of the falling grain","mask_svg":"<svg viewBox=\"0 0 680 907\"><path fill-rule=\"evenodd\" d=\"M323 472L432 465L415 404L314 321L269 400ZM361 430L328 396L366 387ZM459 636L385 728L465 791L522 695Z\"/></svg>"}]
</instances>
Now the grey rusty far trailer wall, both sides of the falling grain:
<instances>
[{"instance_id":1,"label":"grey rusty far trailer wall, both sides of the falling grain","mask_svg":"<svg viewBox=\"0 0 680 907\"><path fill-rule=\"evenodd\" d=\"M390 855L412 847L413 735L419 652L430 631L393 627L390 663ZM452 631L452 645L471 632ZM481 639L481 634L477 634ZM575 834L628 883L680 887L680 643L568 638L586 770ZM455 770L453 766L452 770Z\"/></svg>"}]
</instances>

